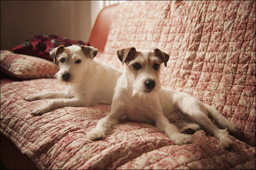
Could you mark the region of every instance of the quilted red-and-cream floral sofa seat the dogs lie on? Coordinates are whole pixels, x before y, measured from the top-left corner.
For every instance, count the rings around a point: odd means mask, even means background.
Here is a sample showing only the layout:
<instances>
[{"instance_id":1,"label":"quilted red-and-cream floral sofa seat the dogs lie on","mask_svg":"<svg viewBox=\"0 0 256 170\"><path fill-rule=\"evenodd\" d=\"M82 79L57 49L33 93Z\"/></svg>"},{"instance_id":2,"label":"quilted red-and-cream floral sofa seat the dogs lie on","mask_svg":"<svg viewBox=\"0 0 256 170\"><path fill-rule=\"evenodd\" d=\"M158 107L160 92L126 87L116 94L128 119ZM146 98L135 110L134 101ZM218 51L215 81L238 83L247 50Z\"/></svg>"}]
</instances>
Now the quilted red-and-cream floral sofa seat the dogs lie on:
<instances>
[{"instance_id":1,"label":"quilted red-and-cream floral sofa seat the dogs lie on","mask_svg":"<svg viewBox=\"0 0 256 170\"><path fill-rule=\"evenodd\" d=\"M1 85L1 133L39 169L255 169L255 147L231 137L232 148L225 150L203 130L192 135L193 143L177 145L155 125L122 121L102 140L88 140L87 132L110 112L110 105L30 115L49 99L27 102L29 94L65 89L56 79Z\"/></svg>"}]
</instances>

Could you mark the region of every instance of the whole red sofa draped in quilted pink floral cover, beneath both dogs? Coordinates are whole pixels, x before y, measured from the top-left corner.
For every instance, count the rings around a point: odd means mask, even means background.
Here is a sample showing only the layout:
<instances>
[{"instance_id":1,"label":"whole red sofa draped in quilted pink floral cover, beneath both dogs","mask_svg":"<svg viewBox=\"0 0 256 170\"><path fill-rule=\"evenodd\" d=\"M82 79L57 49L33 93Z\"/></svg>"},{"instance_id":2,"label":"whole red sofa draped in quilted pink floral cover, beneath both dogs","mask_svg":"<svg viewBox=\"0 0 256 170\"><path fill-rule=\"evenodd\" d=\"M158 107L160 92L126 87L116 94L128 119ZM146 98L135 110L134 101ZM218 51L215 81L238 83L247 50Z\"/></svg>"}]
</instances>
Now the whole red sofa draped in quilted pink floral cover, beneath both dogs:
<instances>
[{"instance_id":1,"label":"whole red sofa draped in quilted pink floral cover, beneath both dogs","mask_svg":"<svg viewBox=\"0 0 256 170\"><path fill-rule=\"evenodd\" d=\"M218 139L203 130L192 135L192 143L177 145L154 124L128 120L102 140L90 141L86 134L111 110L111 105L99 103L32 117L31 111L48 99L27 102L25 97L63 91L65 86L53 78L58 67L47 56L48 46L45 58L40 52L31 54L17 47L1 50L1 162L6 168L256 168L255 1L111 5L99 13L86 44L99 50L98 60L120 69L118 49L159 48L168 53L161 86L214 106L238 128L230 133L232 147L222 149Z\"/></svg>"}]
</instances>

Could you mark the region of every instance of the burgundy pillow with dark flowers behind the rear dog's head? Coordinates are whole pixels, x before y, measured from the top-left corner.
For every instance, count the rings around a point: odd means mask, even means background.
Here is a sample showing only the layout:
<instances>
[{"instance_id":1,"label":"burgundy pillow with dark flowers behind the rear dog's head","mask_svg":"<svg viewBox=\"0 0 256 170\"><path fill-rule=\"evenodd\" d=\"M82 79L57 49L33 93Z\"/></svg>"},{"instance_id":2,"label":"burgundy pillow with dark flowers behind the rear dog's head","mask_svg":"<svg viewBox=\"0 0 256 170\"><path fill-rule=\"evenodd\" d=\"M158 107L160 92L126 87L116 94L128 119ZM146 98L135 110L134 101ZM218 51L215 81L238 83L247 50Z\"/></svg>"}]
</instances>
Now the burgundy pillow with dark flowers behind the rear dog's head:
<instances>
[{"instance_id":1,"label":"burgundy pillow with dark flowers behind the rear dog's head","mask_svg":"<svg viewBox=\"0 0 256 170\"><path fill-rule=\"evenodd\" d=\"M65 47L68 47L73 44L89 46L88 43L84 43L82 41L74 41L56 35L43 34L34 36L33 39L23 42L22 44L12 48L10 51L36 56L47 60L53 60L49 55L49 51L51 49L58 47L59 45L64 45Z\"/></svg>"}]
</instances>

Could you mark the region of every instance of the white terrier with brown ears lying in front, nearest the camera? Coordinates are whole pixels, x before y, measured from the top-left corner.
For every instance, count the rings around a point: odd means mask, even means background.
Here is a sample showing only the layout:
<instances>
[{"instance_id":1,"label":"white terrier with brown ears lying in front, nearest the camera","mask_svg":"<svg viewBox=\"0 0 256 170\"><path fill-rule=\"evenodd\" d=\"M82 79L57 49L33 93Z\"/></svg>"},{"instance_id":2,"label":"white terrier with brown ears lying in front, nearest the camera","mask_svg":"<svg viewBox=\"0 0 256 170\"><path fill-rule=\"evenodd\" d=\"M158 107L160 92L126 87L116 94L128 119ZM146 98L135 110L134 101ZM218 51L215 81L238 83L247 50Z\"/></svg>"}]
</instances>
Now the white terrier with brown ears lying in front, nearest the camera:
<instances>
[{"instance_id":1,"label":"white terrier with brown ears lying in front, nearest the camera","mask_svg":"<svg viewBox=\"0 0 256 170\"><path fill-rule=\"evenodd\" d=\"M189 94L161 88L160 66L162 63L167 66L167 53L157 48L150 52L130 47L117 50L117 56L122 64L125 63L125 70L118 79L110 113L87 133L89 140L104 138L113 126L126 117L131 121L155 123L179 145L191 143L191 134L202 128L213 133L222 148L232 145L227 129L232 132L237 129L214 107ZM226 129L217 128L208 116Z\"/></svg>"}]
</instances>

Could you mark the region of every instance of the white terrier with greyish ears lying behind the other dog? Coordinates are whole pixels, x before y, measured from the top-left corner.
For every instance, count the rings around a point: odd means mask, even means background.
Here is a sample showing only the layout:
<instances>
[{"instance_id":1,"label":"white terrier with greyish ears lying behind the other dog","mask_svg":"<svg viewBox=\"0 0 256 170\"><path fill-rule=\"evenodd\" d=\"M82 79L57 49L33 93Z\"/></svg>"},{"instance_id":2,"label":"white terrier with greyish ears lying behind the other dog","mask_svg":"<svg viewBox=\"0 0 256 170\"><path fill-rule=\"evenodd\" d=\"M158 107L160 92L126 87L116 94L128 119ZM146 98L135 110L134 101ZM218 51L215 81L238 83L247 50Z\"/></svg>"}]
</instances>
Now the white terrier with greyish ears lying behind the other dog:
<instances>
[{"instance_id":1,"label":"white terrier with greyish ears lying behind the other dog","mask_svg":"<svg viewBox=\"0 0 256 170\"><path fill-rule=\"evenodd\" d=\"M88 107L93 103L111 105L114 89L122 70L94 59L98 50L90 46L59 46L50 51L59 66L55 78L67 87L66 91L45 91L31 94L26 101L52 98L48 104L31 112L42 115L60 107Z\"/></svg>"}]
</instances>

